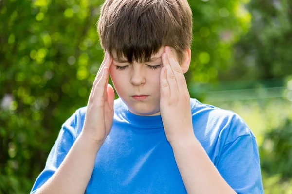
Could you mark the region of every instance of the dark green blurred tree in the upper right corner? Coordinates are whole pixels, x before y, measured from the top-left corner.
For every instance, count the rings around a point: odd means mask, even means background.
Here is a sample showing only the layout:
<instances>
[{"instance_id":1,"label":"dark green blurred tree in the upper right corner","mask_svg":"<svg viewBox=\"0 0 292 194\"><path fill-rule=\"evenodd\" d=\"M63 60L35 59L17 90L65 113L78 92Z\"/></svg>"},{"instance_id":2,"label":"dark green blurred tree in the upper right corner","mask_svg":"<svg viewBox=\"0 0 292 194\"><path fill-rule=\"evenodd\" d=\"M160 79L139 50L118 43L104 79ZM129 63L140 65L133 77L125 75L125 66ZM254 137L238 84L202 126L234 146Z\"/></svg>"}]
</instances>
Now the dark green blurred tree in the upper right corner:
<instances>
[{"instance_id":1,"label":"dark green blurred tree in the upper right corner","mask_svg":"<svg viewBox=\"0 0 292 194\"><path fill-rule=\"evenodd\" d=\"M271 79L292 74L292 1L252 0L250 31L236 44L234 65L220 80Z\"/></svg>"}]
</instances>

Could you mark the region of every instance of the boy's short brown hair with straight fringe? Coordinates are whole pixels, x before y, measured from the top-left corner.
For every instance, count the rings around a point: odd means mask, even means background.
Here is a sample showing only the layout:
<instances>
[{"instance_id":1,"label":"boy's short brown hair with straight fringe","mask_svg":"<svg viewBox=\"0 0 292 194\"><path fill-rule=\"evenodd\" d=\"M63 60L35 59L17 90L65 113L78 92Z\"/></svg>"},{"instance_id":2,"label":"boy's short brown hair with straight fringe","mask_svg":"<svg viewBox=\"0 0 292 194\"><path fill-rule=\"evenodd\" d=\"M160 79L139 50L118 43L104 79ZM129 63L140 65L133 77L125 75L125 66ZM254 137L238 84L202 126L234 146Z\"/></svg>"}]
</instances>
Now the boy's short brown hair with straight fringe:
<instances>
[{"instance_id":1,"label":"boy's short brown hair with straight fringe","mask_svg":"<svg viewBox=\"0 0 292 194\"><path fill-rule=\"evenodd\" d=\"M129 63L149 61L167 45L182 64L192 42L192 11L187 0L105 0L97 31L102 48Z\"/></svg>"}]
</instances>

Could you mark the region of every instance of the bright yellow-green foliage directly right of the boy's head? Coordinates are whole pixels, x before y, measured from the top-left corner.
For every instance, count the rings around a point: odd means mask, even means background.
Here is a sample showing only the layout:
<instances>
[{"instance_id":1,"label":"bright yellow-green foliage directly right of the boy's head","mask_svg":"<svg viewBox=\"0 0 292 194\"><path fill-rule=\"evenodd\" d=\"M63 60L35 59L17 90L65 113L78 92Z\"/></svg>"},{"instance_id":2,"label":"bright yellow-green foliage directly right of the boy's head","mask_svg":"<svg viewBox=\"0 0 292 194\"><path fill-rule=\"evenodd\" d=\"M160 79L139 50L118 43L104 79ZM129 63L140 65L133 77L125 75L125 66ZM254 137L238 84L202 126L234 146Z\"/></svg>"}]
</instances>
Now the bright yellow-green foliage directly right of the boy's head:
<instances>
[{"instance_id":1,"label":"bright yellow-green foliage directly right of the boy's head","mask_svg":"<svg viewBox=\"0 0 292 194\"><path fill-rule=\"evenodd\" d=\"M189 82L215 82L219 71L231 65L232 47L251 25L246 2L189 0L194 22Z\"/></svg>"}]
</instances>

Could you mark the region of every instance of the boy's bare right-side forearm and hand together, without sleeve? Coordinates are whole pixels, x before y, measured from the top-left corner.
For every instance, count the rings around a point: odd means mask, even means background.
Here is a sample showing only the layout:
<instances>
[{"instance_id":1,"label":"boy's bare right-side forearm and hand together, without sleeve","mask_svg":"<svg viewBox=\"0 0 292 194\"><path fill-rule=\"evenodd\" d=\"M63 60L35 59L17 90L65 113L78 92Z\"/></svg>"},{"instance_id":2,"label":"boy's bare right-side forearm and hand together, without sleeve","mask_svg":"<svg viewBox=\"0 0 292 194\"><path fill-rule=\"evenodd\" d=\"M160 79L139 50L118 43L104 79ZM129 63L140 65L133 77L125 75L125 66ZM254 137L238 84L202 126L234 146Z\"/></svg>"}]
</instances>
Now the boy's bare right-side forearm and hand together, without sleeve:
<instances>
[{"instance_id":1,"label":"boy's bare right-side forearm and hand together, without sleeve","mask_svg":"<svg viewBox=\"0 0 292 194\"><path fill-rule=\"evenodd\" d=\"M169 47L162 55L160 111L169 141L188 194L236 194L221 177L195 137L190 96L183 70Z\"/></svg>"}]
</instances>

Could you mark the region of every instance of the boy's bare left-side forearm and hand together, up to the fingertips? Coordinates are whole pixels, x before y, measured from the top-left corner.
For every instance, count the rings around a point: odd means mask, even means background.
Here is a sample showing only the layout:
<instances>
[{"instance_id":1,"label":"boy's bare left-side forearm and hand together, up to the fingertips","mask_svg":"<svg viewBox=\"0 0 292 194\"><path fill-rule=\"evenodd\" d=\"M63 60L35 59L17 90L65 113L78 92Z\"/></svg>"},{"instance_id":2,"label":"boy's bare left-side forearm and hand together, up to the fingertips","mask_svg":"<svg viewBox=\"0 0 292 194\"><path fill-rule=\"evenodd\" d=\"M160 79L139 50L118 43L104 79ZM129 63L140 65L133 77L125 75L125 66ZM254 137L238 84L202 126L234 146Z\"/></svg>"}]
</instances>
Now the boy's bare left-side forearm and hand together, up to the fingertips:
<instances>
[{"instance_id":1,"label":"boy's bare left-side forearm and hand together, up to the fingertips","mask_svg":"<svg viewBox=\"0 0 292 194\"><path fill-rule=\"evenodd\" d=\"M84 194L94 168L96 155L110 133L113 121L114 91L108 83L112 63L106 54L89 96L85 122L65 159L36 194Z\"/></svg>"}]
</instances>

